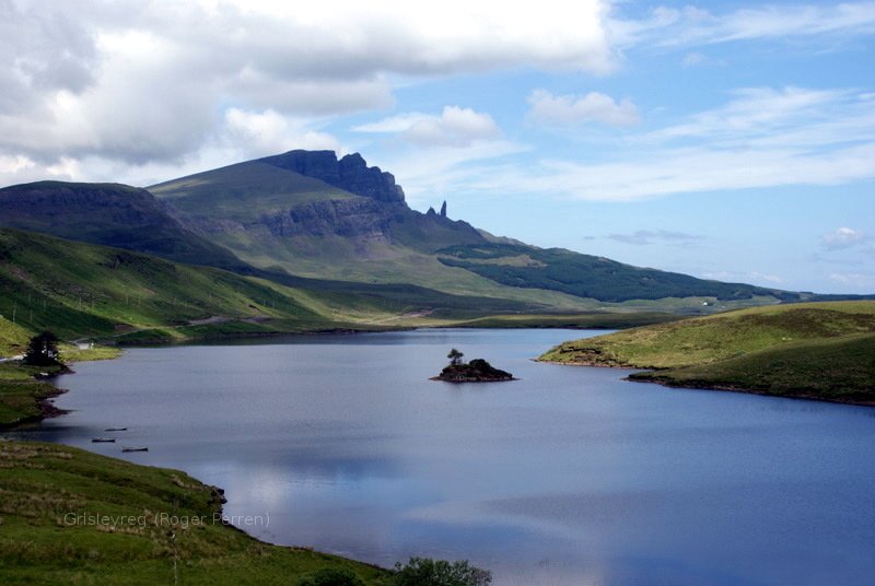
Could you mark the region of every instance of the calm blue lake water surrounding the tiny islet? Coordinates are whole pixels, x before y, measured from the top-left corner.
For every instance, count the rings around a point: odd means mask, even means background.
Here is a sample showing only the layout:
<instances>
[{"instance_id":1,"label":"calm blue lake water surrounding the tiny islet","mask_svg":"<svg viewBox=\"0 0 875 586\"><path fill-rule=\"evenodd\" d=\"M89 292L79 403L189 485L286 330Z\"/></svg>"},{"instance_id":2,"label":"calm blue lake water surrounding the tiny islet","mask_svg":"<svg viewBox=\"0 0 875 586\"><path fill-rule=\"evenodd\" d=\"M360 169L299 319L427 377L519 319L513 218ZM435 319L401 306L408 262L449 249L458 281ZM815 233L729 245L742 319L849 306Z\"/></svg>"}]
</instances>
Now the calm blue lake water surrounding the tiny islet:
<instances>
[{"instance_id":1,"label":"calm blue lake water surrounding the tiny islet","mask_svg":"<svg viewBox=\"0 0 875 586\"><path fill-rule=\"evenodd\" d=\"M532 362L568 330L129 350L32 436L180 468L277 543L503 585L875 584L875 409ZM451 347L522 380L428 380ZM104 427L130 431L92 444ZM120 445L148 445L120 454Z\"/></svg>"}]
</instances>

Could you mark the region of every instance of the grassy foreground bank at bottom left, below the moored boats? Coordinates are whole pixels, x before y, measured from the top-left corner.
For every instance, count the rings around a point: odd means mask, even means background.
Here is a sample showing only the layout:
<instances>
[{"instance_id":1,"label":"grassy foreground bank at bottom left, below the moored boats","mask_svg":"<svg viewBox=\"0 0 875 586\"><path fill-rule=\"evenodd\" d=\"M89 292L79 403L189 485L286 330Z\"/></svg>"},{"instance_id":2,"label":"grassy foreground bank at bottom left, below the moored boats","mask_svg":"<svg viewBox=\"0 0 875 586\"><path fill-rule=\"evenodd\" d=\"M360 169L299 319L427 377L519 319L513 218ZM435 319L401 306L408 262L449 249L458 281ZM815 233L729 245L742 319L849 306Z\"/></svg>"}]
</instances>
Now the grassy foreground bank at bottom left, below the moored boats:
<instances>
[{"instance_id":1,"label":"grassy foreground bank at bottom left, below the moored boats","mask_svg":"<svg viewBox=\"0 0 875 586\"><path fill-rule=\"evenodd\" d=\"M319 567L346 567L368 584L386 572L306 549L259 542L213 524L220 494L184 472L81 449L0 442L0 583L4 585L294 584ZM68 513L147 517L113 528L65 523ZM155 523L166 513L203 526ZM175 535L175 538L171 536Z\"/></svg>"}]
</instances>

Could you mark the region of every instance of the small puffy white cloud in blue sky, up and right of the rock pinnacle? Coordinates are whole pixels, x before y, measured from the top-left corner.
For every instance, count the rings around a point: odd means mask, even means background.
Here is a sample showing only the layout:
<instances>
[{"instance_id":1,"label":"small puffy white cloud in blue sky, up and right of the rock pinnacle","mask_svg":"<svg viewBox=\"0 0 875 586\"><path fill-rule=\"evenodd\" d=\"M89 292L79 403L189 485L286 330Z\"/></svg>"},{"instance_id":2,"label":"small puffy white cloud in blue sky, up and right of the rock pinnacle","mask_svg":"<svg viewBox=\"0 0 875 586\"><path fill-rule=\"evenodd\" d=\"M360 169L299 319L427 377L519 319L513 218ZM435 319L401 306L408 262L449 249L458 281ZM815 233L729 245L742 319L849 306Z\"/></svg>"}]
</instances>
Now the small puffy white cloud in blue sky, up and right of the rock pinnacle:
<instances>
[{"instance_id":1,"label":"small puffy white cloud in blue sky, up and right of the rock pinnacle","mask_svg":"<svg viewBox=\"0 0 875 586\"><path fill-rule=\"evenodd\" d=\"M598 92L557 96L546 90L535 90L528 96L528 103L532 105L529 118L547 125L602 122L622 127L639 122L638 108L629 98L617 103Z\"/></svg>"}]
</instances>

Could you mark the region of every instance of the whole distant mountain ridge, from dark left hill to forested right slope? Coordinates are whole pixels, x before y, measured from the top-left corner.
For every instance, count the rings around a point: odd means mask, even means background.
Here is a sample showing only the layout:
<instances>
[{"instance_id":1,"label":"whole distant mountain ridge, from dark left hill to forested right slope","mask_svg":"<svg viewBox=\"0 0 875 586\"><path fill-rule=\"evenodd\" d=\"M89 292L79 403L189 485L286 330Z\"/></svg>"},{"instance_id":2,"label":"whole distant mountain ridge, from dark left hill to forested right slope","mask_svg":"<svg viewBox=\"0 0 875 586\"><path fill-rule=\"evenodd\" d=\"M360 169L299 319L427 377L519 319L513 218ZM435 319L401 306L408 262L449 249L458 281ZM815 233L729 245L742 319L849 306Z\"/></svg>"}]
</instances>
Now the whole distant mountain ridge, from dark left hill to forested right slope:
<instances>
[{"instance_id":1,"label":"whole distant mountain ridge, from dark left hill to forested right slope","mask_svg":"<svg viewBox=\"0 0 875 586\"><path fill-rule=\"evenodd\" d=\"M0 226L292 286L385 296L405 310L455 310L462 300L477 298L493 300L483 307L502 312L653 309L655 303L712 313L816 297L539 248L491 236L444 210L410 209L394 175L368 166L359 153L334 151L293 150L147 189L58 181L0 189Z\"/></svg>"}]
</instances>

